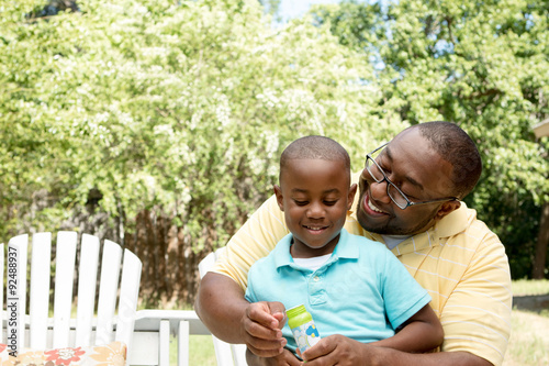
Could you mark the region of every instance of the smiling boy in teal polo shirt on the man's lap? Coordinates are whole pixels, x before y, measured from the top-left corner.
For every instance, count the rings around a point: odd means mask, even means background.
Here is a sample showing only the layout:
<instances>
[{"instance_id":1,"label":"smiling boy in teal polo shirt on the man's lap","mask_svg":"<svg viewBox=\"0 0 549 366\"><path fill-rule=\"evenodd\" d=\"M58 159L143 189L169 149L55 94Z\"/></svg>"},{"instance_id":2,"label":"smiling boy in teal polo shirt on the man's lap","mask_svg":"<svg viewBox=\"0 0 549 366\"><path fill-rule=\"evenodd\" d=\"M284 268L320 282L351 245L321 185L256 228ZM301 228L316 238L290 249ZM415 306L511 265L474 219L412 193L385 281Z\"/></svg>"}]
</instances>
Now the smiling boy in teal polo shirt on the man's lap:
<instances>
[{"instance_id":1,"label":"smiling boy in teal polo shirt on the man's lap","mask_svg":"<svg viewBox=\"0 0 549 366\"><path fill-rule=\"evenodd\" d=\"M343 229L356 191L349 155L337 142L306 136L291 143L274 186L291 233L251 266L246 299L280 301L285 309L305 304L322 337L343 334L406 352L436 348L442 328L427 291L383 244ZM282 334L295 352L288 325Z\"/></svg>"}]
</instances>

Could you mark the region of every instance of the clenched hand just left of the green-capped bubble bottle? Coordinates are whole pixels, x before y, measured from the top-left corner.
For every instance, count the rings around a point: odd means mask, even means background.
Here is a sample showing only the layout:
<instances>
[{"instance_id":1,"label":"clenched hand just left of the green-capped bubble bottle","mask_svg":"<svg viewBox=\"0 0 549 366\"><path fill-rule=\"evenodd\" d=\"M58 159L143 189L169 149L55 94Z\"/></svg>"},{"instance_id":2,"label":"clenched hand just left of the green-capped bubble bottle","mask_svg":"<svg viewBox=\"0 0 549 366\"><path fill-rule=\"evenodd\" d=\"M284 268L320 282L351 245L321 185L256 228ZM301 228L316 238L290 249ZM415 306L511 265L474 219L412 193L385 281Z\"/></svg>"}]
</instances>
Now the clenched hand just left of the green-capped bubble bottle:
<instances>
[{"instance_id":1,"label":"clenched hand just left of the green-capped bubble bottle","mask_svg":"<svg viewBox=\"0 0 549 366\"><path fill-rule=\"evenodd\" d=\"M250 303L242 319L242 329L248 350L260 357L282 354L287 344L282 336L285 308L281 302L260 301Z\"/></svg>"}]
</instances>

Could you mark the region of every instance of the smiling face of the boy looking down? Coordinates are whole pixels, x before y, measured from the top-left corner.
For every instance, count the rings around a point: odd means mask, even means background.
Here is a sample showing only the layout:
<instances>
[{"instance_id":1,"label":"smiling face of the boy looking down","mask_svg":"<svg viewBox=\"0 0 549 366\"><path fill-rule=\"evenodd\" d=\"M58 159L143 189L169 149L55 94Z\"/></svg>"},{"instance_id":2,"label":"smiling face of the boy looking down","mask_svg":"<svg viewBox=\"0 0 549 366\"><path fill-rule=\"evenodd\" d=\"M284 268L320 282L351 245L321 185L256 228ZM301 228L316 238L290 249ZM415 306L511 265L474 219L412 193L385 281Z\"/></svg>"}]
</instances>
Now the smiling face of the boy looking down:
<instances>
[{"instance_id":1,"label":"smiling face of the boy looking down","mask_svg":"<svg viewBox=\"0 0 549 366\"><path fill-rule=\"evenodd\" d=\"M293 257L329 254L339 239L357 186L349 187L344 162L292 159L281 171L274 195L293 234Z\"/></svg>"}]
</instances>

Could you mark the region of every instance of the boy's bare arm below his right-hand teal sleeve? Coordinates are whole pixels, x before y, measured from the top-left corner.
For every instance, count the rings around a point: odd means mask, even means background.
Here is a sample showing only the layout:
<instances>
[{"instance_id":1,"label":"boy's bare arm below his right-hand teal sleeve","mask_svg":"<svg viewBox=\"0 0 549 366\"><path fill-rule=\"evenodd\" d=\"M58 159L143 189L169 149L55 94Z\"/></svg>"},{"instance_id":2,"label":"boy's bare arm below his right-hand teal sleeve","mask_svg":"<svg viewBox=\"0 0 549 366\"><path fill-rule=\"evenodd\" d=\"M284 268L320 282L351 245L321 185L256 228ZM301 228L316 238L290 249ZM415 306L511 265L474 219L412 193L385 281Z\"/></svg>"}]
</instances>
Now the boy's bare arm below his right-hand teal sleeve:
<instances>
[{"instance_id":1,"label":"boy's bare arm below his right-hand teal sleeve","mask_svg":"<svg viewBox=\"0 0 549 366\"><path fill-rule=\"evenodd\" d=\"M429 304L412 315L393 336L371 343L410 353L423 353L438 347L444 340L440 321Z\"/></svg>"}]
</instances>

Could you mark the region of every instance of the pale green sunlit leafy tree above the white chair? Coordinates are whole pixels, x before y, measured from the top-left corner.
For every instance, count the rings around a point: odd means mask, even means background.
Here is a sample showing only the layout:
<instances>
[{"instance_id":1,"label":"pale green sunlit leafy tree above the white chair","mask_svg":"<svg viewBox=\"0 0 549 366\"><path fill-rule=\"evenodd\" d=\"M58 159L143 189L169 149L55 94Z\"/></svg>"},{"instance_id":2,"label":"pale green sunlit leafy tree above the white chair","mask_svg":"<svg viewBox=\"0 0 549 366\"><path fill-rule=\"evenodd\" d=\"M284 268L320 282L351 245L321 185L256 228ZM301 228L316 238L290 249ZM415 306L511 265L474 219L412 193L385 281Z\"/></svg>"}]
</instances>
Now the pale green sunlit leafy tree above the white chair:
<instances>
[{"instance_id":1,"label":"pale green sunlit leafy tree above the white chair","mask_svg":"<svg viewBox=\"0 0 549 366\"><path fill-rule=\"evenodd\" d=\"M327 27L273 30L257 1L89 0L25 20L40 4L1 8L2 236L59 224L97 189L126 228L156 210L195 249L221 245L291 140L330 135L359 157L377 121L371 67ZM37 191L55 206L31 210Z\"/></svg>"}]
</instances>

